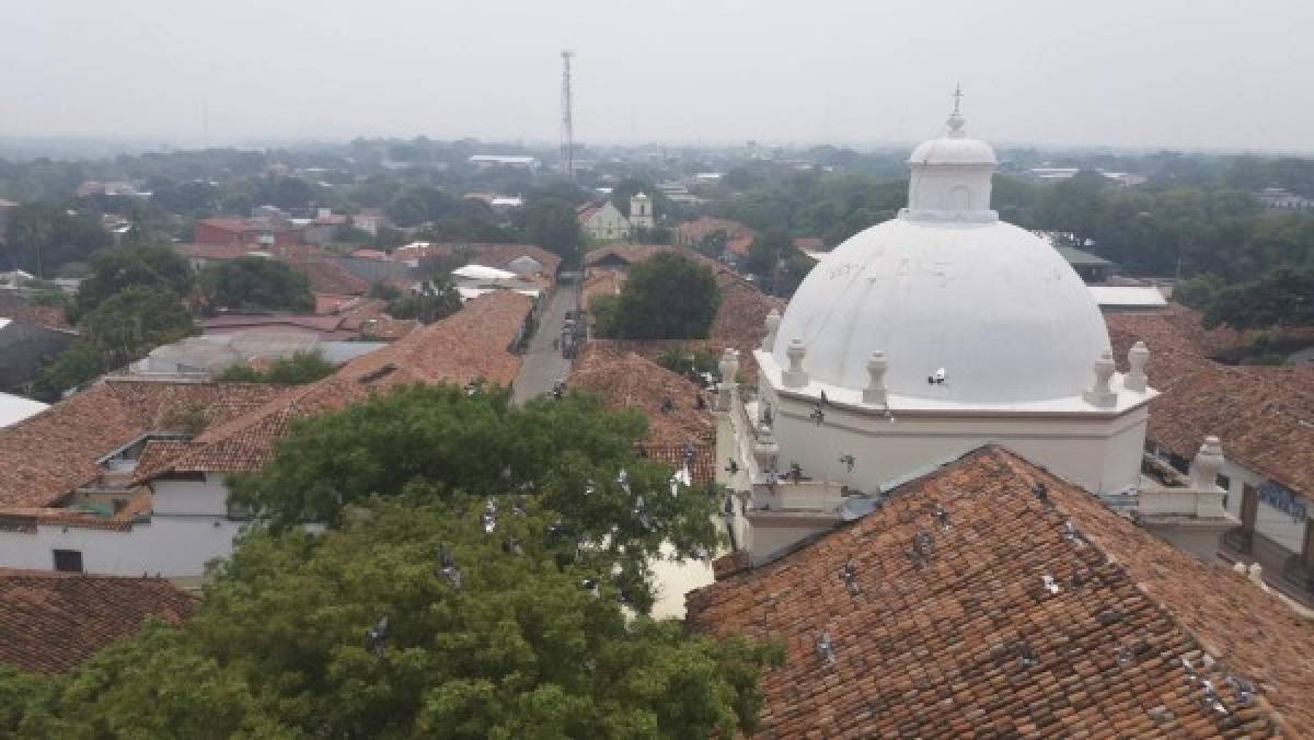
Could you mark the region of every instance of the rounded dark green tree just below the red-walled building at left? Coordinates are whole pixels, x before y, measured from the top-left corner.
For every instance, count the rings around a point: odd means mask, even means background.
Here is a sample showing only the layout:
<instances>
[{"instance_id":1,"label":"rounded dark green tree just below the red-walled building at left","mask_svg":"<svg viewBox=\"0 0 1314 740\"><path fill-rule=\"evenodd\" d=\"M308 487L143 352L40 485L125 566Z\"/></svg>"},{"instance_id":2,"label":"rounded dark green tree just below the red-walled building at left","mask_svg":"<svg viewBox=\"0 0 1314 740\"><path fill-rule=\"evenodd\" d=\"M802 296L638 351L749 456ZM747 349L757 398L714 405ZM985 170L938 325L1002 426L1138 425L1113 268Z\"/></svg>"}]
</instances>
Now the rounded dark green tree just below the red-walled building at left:
<instances>
[{"instance_id":1,"label":"rounded dark green tree just below the red-walled building at left","mask_svg":"<svg viewBox=\"0 0 1314 740\"><path fill-rule=\"evenodd\" d=\"M198 281L212 310L309 312L315 305L306 276L272 259L247 256L212 264Z\"/></svg>"}]
</instances>

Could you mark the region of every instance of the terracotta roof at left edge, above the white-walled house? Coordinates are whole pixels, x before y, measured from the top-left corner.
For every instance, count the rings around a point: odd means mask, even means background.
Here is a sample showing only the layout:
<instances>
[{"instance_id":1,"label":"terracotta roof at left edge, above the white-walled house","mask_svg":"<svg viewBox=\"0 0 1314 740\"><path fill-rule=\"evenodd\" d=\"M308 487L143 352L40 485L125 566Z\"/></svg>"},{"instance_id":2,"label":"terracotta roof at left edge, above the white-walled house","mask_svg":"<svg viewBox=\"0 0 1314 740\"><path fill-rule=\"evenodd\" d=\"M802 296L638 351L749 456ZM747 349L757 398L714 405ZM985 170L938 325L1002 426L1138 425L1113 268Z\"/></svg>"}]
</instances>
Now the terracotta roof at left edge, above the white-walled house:
<instances>
[{"instance_id":1,"label":"terracotta roof at left edge, above the white-walled house","mask_svg":"<svg viewBox=\"0 0 1314 740\"><path fill-rule=\"evenodd\" d=\"M0 428L0 509L50 506L96 480L96 460L179 413L200 409L210 425L268 402L279 389L259 384L106 379L16 425Z\"/></svg>"}]
</instances>

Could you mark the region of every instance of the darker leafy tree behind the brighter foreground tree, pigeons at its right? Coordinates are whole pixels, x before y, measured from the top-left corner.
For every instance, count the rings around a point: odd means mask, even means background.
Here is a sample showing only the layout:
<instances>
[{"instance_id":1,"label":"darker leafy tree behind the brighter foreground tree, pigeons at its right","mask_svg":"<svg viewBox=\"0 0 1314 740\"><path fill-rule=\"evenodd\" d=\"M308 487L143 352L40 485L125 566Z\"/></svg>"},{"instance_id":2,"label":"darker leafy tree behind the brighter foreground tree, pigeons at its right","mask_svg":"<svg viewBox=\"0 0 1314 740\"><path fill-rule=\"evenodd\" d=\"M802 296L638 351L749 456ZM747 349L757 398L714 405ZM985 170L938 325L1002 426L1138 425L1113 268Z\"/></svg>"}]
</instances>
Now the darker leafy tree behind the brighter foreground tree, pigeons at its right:
<instances>
[{"instance_id":1,"label":"darker leafy tree behind the brighter foreground tree, pigeons at its right","mask_svg":"<svg viewBox=\"0 0 1314 740\"><path fill-rule=\"evenodd\" d=\"M346 506L373 494L523 494L560 517L572 552L604 552L640 610L652 603L648 561L664 543L679 557L714 548L717 502L636 455L646 427L637 411L608 411L574 393L523 407L509 398L501 389L407 386L294 422L259 474L231 481L234 499L281 531L336 526Z\"/></svg>"}]
</instances>

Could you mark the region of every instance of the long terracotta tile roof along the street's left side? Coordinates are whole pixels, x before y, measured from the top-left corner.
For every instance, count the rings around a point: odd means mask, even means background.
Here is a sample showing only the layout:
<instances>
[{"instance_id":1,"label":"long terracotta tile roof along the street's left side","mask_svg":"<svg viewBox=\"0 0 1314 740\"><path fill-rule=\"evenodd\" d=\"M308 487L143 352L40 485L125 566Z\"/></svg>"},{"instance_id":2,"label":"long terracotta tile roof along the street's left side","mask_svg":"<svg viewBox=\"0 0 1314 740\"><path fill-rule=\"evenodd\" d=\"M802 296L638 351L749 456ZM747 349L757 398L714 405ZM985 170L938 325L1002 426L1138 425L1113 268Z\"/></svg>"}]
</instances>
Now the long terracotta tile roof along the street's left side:
<instances>
[{"instance_id":1,"label":"long terracotta tile roof along the street's left side","mask_svg":"<svg viewBox=\"0 0 1314 740\"><path fill-rule=\"evenodd\" d=\"M355 358L318 382L289 388L261 407L208 428L189 452L160 472L256 471L290 419L340 409L407 382L484 379L510 385L520 368L510 346L531 306L530 298L511 292L474 298L455 315Z\"/></svg>"}]
</instances>

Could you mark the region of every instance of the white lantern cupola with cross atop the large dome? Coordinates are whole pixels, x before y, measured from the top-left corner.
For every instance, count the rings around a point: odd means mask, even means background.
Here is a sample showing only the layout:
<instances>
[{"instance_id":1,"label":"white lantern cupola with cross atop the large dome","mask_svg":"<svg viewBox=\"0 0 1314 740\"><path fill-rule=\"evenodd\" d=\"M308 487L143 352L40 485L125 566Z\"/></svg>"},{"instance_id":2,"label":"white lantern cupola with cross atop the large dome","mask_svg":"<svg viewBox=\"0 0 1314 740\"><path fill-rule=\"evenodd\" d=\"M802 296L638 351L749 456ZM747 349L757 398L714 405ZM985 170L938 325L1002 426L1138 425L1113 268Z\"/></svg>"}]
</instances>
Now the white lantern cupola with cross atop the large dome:
<instances>
[{"instance_id":1,"label":"white lantern cupola with cross atop the large dome","mask_svg":"<svg viewBox=\"0 0 1314 740\"><path fill-rule=\"evenodd\" d=\"M999 220L989 208L991 176L999 160L988 143L967 138L961 100L962 89L954 91L947 133L924 142L908 158L912 181L901 218L976 223Z\"/></svg>"}]
</instances>

